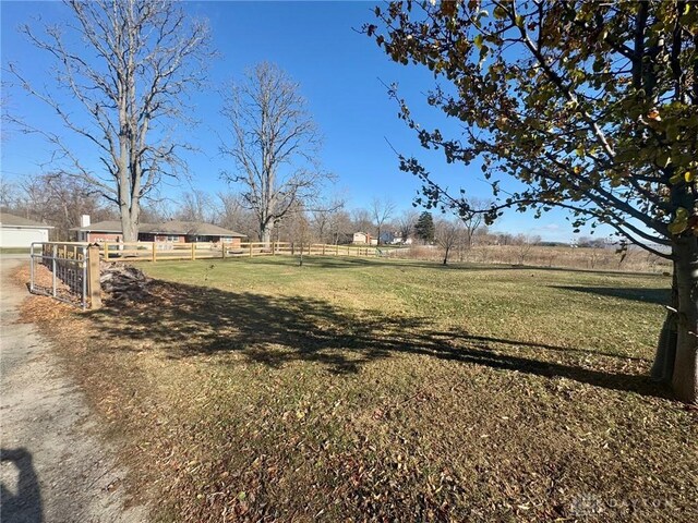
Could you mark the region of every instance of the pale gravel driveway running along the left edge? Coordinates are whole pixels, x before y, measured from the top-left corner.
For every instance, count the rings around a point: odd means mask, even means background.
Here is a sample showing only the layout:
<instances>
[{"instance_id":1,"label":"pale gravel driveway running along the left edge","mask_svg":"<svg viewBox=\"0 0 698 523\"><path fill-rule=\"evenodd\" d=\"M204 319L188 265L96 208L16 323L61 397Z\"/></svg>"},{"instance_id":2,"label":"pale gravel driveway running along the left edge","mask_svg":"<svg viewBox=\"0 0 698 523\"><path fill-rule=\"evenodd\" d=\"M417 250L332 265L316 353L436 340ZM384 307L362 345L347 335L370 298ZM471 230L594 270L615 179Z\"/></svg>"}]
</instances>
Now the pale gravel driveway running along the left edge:
<instances>
[{"instance_id":1,"label":"pale gravel driveway running along the left edge","mask_svg":"<svg viewBox=\"0 0 698 523\"><path fill-rule=\"evenodd\" d=\"M147 521L124 508L124 471L97 436L83 393L35 326L17 324L25 288L0 256L0 495L3 523Z\"/></svg>"}]
</instances>

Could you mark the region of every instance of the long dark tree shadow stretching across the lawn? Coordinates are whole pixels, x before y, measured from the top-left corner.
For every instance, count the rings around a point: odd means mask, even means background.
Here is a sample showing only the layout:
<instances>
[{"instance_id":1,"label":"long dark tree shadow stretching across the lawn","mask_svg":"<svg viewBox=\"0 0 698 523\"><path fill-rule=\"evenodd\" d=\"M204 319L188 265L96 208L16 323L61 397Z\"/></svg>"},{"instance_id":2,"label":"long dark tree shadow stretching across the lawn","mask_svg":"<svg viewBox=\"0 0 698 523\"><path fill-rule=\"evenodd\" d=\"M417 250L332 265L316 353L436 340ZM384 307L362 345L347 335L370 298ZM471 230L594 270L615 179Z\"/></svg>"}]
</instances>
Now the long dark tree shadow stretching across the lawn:
<instances>
[{"instance_id":1,"label":"long dark tree shadow stretching across the lawn","mask_svg":"<svg viewBox=\"0 0 698 523\"><path fill-rule=\"evenodd\" d=\"M561 353L569 353L574 360L574 353L583 352L597 358L594 365L603 363L613 368L627 362L624 356L440 331L433 329L429 318L351 312L306 296L236 293L158 280L151 283L151 289L154 296L149 303L87 313L97 323L100 336L113 337L123 344L148 340L169 351L172 358L234 352L272 367L294 361L315 362L335 374L357 373L366 363L410 353L665 397L645 376L559 361L567 355ZM535 357L521 355L527 352Z\"/></svg>"}]
</instances>

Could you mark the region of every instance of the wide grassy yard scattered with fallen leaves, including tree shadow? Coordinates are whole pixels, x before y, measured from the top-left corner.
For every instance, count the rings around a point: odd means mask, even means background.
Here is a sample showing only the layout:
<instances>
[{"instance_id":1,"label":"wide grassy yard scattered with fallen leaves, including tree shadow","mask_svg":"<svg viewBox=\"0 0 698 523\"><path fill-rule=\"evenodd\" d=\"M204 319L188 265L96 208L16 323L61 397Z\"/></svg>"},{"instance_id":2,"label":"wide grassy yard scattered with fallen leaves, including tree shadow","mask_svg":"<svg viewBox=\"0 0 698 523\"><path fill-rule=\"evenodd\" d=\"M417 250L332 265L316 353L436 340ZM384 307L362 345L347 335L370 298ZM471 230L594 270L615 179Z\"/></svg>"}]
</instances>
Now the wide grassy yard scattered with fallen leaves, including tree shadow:
<instances>
[{"instance_id":1,"label":"wide grassy yard scattered with fallen leaves, including tree shadow","mask_svg":"<svg viewBox=\"0 0 698 523\"><path fill-rule=\"evenodd\" d=\"M646 378L666 277L142 267L45 327L160 521L698 521L697 413Z\"/></svg>"}]
</instances>

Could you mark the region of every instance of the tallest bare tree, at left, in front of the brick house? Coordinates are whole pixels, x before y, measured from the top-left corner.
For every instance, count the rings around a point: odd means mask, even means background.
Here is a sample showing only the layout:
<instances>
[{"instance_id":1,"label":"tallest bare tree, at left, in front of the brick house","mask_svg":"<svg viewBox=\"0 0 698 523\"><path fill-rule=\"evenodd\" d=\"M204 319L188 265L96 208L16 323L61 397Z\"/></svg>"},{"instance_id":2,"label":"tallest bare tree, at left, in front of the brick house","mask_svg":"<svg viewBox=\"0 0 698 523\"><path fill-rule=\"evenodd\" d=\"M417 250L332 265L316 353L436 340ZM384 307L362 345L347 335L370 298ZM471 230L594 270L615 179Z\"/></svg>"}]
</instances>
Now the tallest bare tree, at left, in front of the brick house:
<instances>
[{"instance_id":1,"label":"tallest bare tree, at left, in front of the brick house","mask_svg":"<svg viewBox=\"0 0 698 523\"><path fill-rule=\"evenodd\" d=\"M40 90L16 65L9 70L52 109L68 134L92 147L100 169L93 169L86 149L74 149L63 134L13 121L25 132L44 135L69 162L70 172L113 202L124 241L135 241L141 198L163 175L173 175L183 166L178 154L182 142L173 139L170 130L184 118L183 94L201 85L210 61L207 26L168 0L64 3L73 23L47 26L43 35L22 27L37 48L56 59L57 89ZM67 106L61 90L75 104Z\"/></svg>"}]
</instances>

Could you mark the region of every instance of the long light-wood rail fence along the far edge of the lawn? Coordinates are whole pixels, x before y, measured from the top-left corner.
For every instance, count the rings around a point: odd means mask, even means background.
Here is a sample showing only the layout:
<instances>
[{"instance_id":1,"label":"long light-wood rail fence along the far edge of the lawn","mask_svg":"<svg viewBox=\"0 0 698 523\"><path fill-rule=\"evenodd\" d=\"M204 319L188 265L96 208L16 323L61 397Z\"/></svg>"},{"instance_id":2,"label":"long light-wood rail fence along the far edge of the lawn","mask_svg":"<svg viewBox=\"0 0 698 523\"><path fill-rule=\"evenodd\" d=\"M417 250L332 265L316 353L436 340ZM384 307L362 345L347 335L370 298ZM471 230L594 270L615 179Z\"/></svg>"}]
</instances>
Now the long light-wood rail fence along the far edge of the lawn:
<instances>
[{"instance_id":1,"label":"long light-wood rail fence along the far edge of the lawn","mask_svg":"<svg viewBox=\"0 0 698 523\"><path fill-rule=\"evenodd\" d=\"M303 256L380 256L376 246L330 245L322 243L244 242L244 243L176 243L176 242L104 242L101 255L108 260L165 262L184 259L234 258L274 255Z\"/></svg>"}]
</instances>

